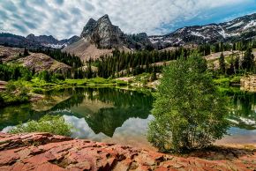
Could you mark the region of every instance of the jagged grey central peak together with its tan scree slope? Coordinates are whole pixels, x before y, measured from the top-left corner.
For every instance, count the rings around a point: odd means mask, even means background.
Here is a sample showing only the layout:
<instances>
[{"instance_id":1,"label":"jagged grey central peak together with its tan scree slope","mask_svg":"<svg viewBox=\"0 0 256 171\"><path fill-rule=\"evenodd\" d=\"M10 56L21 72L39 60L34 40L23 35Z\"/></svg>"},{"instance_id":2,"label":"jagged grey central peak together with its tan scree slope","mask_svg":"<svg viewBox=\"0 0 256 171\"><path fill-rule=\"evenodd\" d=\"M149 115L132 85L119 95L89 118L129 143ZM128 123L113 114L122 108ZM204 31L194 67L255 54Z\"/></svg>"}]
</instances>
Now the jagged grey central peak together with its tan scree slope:
<instances>
[{"instance_id":1,"label":"jagged grey central peak together with its tan scree slope","mask_svg":"<svg viewBox=\"0 0 256 171\"><path fill-rule=\"evenodd\" d=\"M153 48L147 33L125 34L111 23L106 14L97 21L89 19L87 25L80 34L80 40L63 50L87 61L89 58L111 55L113 49L132 51L135 49Z\"/></svg>"}]
</instances>

